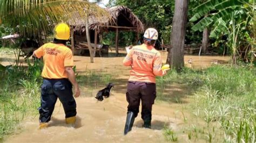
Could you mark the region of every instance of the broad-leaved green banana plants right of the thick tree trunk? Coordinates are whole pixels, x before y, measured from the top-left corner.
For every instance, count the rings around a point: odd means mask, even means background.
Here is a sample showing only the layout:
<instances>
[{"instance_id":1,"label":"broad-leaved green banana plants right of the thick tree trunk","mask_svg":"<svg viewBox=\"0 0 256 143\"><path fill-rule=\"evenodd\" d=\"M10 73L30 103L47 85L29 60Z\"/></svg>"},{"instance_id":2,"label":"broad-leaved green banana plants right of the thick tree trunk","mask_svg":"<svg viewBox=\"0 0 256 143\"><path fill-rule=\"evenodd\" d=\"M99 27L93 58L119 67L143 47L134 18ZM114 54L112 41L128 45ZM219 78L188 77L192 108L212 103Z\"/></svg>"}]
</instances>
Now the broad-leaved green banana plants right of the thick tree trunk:
<instances>
[{"instance_id":1,"label":"broad-leaved green banana plants right of the thick tree trunk","mask_svg":"<svg viewBox=\"0 0 256 143\"><path fill-rule=\"evenodd\" d=\"M193 31L210 28L210 38L215 46L226 46L232 52L236 64L239 59L253 62L254 1L229 0L206 1L193 9L194 16L190 22L197 22Z\"/></svg>"}]
</instances>

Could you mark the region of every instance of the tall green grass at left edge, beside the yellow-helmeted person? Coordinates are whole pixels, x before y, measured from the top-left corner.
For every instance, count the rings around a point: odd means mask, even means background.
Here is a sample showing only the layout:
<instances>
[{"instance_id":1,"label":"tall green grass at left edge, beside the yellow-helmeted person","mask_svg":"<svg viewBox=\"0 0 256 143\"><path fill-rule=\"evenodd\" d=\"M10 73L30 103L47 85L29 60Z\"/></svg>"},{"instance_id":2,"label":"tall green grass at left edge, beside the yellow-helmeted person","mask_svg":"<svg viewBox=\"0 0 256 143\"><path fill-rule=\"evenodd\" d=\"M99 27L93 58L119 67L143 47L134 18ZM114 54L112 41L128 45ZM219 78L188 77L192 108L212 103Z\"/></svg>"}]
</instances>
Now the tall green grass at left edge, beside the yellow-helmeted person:
<instances>
[{"instance_id":1,"label":"tall green grass at left edge, beside the yellow-helmeted person","mask_svg":"<svg viewBox=\"0 0 256 143\"><path fill-rule=\"evenodd\" d=\"M40 105L41 70L43 63L35 61L28 67L8 66L0 73L0 141L19 128L29 112L36 113Z\"/></svg>"}]
</instances>

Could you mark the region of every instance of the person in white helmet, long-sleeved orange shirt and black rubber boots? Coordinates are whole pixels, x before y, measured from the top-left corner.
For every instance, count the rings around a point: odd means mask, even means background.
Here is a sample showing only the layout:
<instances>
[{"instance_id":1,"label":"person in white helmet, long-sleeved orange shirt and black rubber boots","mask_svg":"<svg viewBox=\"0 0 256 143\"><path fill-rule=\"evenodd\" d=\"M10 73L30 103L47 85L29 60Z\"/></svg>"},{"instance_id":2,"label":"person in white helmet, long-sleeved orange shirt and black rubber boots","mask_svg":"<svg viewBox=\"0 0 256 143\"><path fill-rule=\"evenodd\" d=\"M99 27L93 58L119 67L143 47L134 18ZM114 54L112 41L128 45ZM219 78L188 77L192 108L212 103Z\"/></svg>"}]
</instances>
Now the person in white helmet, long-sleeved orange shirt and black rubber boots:
<instances>
[{"instance_id":1,"label":"person in white helmet, long-sleeved orange shirt and black rubber boots","mask_svg":"<svg viewBox=\"0 0 256 143\"><path fill-rule=\"evenodd\" d=\"M132 129L134 119L139 112L140 100L142 101L143 127L151 128L151 111L156 98L156 76L163 76L169 70L169 68L161 69L161 55L154 48L157 39L157 30L148 28L144 33L144 44L132 47L123 61L124 66L132 68L126 92L129 105L124 134Z\"/></svg>"}]
</instances>

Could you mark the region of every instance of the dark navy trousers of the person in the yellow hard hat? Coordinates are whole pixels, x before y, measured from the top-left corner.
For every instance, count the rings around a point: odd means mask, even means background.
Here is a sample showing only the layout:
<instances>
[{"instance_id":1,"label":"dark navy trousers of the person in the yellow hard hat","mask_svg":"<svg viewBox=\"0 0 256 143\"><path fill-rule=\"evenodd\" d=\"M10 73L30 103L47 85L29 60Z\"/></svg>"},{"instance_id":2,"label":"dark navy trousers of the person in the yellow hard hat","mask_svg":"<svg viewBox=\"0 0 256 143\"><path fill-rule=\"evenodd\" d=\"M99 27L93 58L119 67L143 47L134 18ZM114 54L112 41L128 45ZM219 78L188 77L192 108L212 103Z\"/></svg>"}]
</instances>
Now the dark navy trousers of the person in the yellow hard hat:
<instances>
[{"instance_id":1,"label":"dark navy trousers of the person in the yellow hard hat","mask_svg":"<svg viewBox=\"0 0 256 143\"><path fill-rule=\"evenodd\" d=\"M73 98L71 82L67 78L44 78L41 88L41 107L38 108L40 123L51 120L57 98L63 105L66 118L76 116L76 101Z\"/></svg>"}]
</instances>

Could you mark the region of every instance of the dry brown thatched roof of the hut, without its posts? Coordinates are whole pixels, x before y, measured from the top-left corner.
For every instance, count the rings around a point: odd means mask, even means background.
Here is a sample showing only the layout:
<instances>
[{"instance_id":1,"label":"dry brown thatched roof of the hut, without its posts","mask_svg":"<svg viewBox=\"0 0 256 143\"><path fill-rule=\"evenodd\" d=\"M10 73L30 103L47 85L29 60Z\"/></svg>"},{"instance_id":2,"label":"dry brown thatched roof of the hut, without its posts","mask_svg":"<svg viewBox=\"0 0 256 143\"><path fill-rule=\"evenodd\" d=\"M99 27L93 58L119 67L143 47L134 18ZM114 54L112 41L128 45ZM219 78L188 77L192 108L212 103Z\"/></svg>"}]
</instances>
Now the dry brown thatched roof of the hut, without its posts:
<instances>
[{"instance_id":1,"label":"dry brown thatched roof of the hut, without its posts","mask_svg":"<svg viewBox=\"0 0 256 143\"><path fill-rule=\"evenodd\" d=\"M125 6L114 6L112 8L106 8L110 13L111 18L103 17L100 20L93 16L89 17L89 28L97 31L114 31L116 26L119 30L134 30L143 32L143 24L138 17L132 13L132 11ZM75 26L75 31L81 30L85 26L85 22L80 19L79 13L73 14L77 18L76 22L70 22L70 25Z\"/></svg>"}]
</instances>

